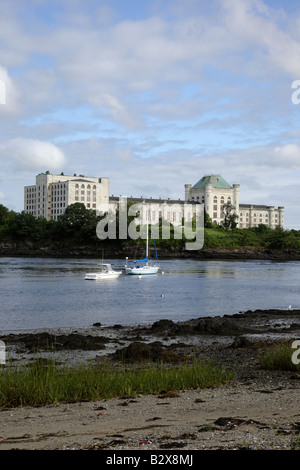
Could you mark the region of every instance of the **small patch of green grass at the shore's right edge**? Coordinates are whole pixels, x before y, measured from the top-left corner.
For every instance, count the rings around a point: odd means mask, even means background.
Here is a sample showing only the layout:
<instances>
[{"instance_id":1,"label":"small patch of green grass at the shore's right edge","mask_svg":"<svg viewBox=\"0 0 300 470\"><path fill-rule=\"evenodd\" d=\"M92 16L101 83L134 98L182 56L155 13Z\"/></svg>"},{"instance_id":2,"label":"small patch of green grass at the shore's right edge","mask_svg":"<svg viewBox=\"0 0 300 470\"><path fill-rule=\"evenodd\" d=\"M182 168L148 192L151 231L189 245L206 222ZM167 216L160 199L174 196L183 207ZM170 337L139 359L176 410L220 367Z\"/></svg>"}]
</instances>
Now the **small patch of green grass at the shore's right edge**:
<instances>
[{"instance_id":1,"label":"small patch of green grass at the shore's right edge","mask_svg":"<svg viewBox=\"0 0 300 470\"><path fill-rule=\"evenodd\" d=\"M260 355L259 365L267 370L300 371L300 365L292 361L294 353L297 351L292 348L291 342L276 345Z\"/></svg>"}]
</instances>

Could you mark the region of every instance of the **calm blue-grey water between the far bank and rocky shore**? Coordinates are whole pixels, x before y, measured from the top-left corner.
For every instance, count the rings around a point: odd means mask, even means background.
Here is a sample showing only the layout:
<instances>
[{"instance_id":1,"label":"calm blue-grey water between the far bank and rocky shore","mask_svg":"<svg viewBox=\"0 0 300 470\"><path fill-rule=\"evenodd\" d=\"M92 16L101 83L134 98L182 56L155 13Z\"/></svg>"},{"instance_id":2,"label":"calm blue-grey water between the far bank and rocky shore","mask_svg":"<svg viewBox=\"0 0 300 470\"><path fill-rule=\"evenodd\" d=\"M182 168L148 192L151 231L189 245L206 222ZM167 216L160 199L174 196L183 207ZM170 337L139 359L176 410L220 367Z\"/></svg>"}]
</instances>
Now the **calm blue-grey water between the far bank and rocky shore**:
<instances>
[{"instance_id":1,"label":"calm blue-grey water between the far bank and rocky shore","mask_svg":"<svg viewBox=\"0 0 300 470\"><path fill-rule=\"evenodd\" d=\"M123 268L123 260L106 260ZM97 260L0 258L0 331L300 308L300 262L161 261L164 274L86 281Z\"/></svg>"}]
</instances>

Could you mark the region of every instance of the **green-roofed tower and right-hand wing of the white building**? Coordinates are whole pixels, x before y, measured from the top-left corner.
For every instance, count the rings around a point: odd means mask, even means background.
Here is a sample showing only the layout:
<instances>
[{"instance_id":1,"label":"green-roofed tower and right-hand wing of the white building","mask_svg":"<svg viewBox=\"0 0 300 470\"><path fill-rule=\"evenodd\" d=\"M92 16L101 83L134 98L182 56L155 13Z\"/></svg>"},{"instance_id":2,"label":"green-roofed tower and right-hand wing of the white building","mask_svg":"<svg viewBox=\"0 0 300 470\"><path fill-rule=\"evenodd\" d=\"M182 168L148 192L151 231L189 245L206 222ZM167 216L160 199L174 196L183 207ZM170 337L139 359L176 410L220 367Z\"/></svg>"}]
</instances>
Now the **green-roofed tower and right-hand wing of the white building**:
<instances>
[{"instance_id":1,"label":"green-roofed tower and right-hand wing of the white building","mask_svg":"<svg viewBox=\"0 0 300 470\"><path fill-rule=\"evenodd\" d=\"M222 225L224 221L223 206L230 203L237 214L239 228L257 227L260 224L271 228L283 227L284 207L255 204L240 204L240 185L232 186L221 175L203 176L194 186L185 185L186 201L196 201L204 204L205 211L211 217L213 224Z\"/></svg>"}]
</instances>

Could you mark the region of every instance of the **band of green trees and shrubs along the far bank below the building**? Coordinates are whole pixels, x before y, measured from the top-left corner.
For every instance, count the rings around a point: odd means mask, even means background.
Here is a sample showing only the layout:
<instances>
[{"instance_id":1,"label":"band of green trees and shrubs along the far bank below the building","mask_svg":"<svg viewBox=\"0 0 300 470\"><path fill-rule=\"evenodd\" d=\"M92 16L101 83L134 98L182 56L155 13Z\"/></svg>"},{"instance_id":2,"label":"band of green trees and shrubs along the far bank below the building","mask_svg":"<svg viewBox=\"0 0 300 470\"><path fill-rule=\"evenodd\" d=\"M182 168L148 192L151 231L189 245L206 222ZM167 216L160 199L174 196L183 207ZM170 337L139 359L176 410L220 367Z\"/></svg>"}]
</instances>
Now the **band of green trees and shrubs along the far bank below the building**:
<instances>
[{"instance_id":1,"label":"band of green trees and shrubs along the far bank below the building","mask_svg":"<svg viewBox=\"0 0 300 470\"><path fill-rule=\"evenodd\" d=\"M130 201L128 201L130 204ZM128 217L129 224L134 217ZM67 207L58 220L36 218L24 211L15 212L0 204L0 242L32 242L40 246L47 244L95 245L103 243L96 234L96 227L101 217L96 211L87 209L84 204L75 203ZM233 249L239 247L268 248L272 250L300 250L300 231L271 229L263 224L258 227L240 229L212 225L205 214L204 248ZM116 217L116 240L110 243L133 243L133 240L119 240L118 213ZM137 228L138 231L138 228ZM184 236L178 237L178 228L170 226L170 239L160 236L155 240L157 247L170 248L185 246ZM150 243L151 228L149 228ZM140 240L137 240L139 243ZM144 242L144 241L143 241Z\"/></svg>"}]
</instances>

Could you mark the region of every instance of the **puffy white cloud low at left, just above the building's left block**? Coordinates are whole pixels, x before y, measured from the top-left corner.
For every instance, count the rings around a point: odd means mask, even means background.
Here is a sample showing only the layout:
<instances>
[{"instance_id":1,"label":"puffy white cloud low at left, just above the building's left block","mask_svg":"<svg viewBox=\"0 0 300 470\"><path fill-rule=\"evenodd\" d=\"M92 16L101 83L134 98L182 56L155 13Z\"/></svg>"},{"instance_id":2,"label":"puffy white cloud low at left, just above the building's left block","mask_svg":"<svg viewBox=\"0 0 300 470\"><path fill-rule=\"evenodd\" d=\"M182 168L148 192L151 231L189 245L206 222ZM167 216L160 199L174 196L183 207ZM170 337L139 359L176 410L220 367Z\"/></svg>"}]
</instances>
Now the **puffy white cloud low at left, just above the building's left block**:
<instances>
[{"instance_id":1,"label":"puffy white cloud low at left, just above the building's left block","mask_svg":"<svg viewBox=\"0 0 300 470\"><path fill-rule=\"evenodd\" d=\"M51 142L16 138L0 145L0 155L17 162L20 169L63 170L65 156Z\"/></svg>"}]
</instances>

